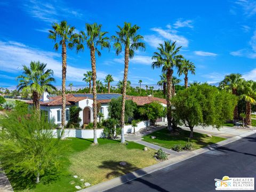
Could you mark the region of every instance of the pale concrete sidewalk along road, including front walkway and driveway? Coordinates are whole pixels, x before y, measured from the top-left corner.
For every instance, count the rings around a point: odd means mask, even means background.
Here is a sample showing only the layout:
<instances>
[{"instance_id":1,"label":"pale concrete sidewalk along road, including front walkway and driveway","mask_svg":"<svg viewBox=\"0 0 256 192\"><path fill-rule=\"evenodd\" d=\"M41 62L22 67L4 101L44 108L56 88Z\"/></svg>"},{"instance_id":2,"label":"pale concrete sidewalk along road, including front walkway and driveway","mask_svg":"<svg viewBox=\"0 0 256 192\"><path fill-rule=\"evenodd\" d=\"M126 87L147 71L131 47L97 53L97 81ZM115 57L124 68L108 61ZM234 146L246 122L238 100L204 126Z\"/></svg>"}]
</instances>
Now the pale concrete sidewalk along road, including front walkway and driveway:
<instances>
[{"instance_id":1,"label":"pale concrete sidewalk along road, including front walkway and driveway","mask_svg":"<svg viewBox=\"0 0 256 192\"><path fill-rule=\"evenodd\" d=\"M122 175L121 177L117 177L117 178L111 179L106 182L99 183L98 185L95 185L95 186L92 186L92 187L89 187L89 188L86 188L86 189L83 189L80 191L81 192L105 191L107 189L116 187L118 185L122 185L125 182L129 182L131 180L140 178L143 175L150 174L157 170L164 169L167 166L173 165L175 163L179 163L181 161L185 161L186 159L189 159L191 157L195 157L197 155L203 154L212 149L221 147L223 145L227 145L228 143L237 141L239 139L248 137L249 135L256 133L256 130L249 131L249 130L233 129L231 127L223 127L223 129L221 131L218 131L218 130L216 131L216 130L212 130L211 127L209 127L209 129L202 129L202 127L196 127L195 132L202 132L202 133L207 133L207 134L212 133L212 135L216 135L219 137L220 137L220 135L222 135L222 137L226 136L226 138L228 138L228 139L220 141L218 143L214 143L213 145L210 145L210 146L206 146L206 147L194 150L194 151L176 152L171 149L167 149L167 150L169 150L170 155L169 155L169 159L167 159L164 162L160 162L160 163L145 167L143 169L128 173L126 175ZM153 149L156 149L157 147L159 147L159 146L156 147L156 145L153 145L151 143L141 141L141 137L139 135L133 136L133 137L130 135L129 137L126 137L126 140L138 142L142 145L145 145L148 147L150 146ZM162 149L166 150L165 148L162 148Z\"/></svg>"}]
</instances>

